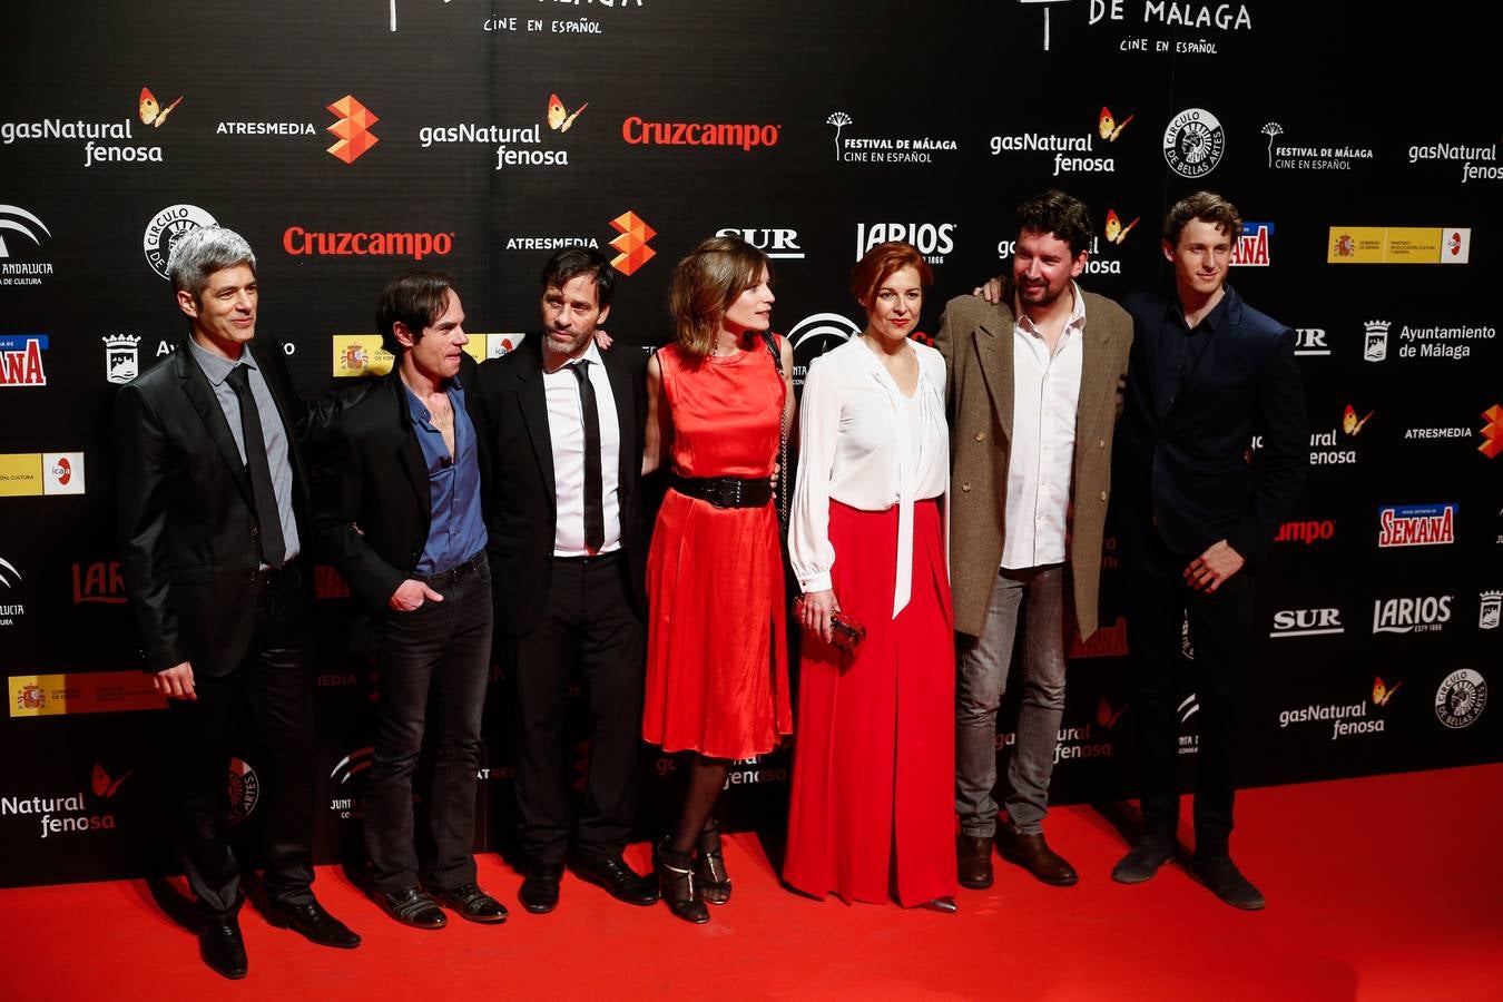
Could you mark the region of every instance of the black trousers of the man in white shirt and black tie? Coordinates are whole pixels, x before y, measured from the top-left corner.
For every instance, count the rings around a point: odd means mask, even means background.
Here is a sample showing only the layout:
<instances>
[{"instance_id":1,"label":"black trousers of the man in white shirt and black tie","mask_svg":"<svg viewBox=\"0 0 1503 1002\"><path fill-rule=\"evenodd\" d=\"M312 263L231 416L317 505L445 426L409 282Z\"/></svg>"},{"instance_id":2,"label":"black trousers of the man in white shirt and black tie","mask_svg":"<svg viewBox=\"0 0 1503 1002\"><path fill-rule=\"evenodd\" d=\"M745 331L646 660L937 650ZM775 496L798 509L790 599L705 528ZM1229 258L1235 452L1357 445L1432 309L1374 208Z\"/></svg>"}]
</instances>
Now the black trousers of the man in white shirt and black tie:
<instances>
[{"instance_id":1,"label":"black trousers of the man in white shirt and black tie","mask_svg":"<svg viewBox=\"0 0 1503 1002\"><path fill-rule=\"evenodd\" d=\"M543 617L514 643L522 846L544 865L568 852L576 826L564 724L570 675L579 665L591 736L576 850L586 858L619 853L636 810L646 673L646 629L631 611L625 556L556 557Z\"/></svg>"}]
</instances>

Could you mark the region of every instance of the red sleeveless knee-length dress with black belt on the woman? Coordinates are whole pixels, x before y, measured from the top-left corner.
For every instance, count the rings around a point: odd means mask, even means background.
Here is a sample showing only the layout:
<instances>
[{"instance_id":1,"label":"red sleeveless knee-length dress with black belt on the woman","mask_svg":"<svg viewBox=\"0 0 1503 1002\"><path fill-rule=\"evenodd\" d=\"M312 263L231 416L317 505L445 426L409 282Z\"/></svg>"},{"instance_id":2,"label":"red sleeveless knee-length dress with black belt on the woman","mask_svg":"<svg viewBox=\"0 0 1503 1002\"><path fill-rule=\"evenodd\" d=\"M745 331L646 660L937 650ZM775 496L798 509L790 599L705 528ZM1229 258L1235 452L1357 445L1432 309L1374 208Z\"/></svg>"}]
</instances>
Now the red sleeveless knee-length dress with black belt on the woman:
<instances>
[{"instance_id":1,"label":"red sleeveless knee-length dress with black belt on the woman","mask_svg":"<svg viewBox=\"0 0 1503 1002\"><path fill-rule=\"evenodd\" d=\"M771 353L657 353L679 476L773 475L785 386ZM669 490L648 553L642 736L664 751L750 759L794 730L783 557L773 503L715 508Z\"/></svg>"}]
</instances>

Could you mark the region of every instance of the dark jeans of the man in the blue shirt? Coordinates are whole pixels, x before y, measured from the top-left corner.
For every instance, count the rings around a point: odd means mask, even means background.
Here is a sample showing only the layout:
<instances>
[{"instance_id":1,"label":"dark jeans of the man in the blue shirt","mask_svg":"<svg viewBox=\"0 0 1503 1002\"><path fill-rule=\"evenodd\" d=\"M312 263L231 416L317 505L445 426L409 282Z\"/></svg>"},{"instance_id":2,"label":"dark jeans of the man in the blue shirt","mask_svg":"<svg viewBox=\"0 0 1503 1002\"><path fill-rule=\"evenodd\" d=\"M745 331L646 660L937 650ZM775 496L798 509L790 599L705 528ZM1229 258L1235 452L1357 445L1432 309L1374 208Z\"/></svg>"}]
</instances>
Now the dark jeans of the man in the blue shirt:
<instances>
[{"instance_id":1,"label":"dark jeans of the man in the blue shirt","mask_svg":"<svg viewBox=\"0 0 1503 1002\"><path fill-rule=\"evenodd\" d=\"M490 566L484 553L457 571L422 578L442 602L386 611L377 670L376 750L365 778L365 852L380 892L418 885L412 778L424 733L433 739L424 882L452 889L475 880L475 774L490 673Z\"/></svg>"}]
</instances>

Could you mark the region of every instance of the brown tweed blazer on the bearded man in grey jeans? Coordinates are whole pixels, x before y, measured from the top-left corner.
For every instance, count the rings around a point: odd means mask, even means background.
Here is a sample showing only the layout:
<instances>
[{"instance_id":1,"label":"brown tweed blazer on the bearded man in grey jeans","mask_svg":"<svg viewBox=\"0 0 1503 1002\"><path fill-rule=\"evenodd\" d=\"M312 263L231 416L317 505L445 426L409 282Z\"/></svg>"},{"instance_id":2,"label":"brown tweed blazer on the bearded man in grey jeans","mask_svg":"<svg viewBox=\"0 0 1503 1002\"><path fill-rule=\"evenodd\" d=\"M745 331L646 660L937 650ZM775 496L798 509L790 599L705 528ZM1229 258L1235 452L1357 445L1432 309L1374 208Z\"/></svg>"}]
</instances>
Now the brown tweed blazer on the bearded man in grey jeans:
<instances>
[{"instance_id":1,"label":"brown tweed blazer on the bearded man in grey jeans","mask_svg":"<svg viewBox=\"0 0 1503 1002\"><path fill-rule=\"evenodd\" d=\"M950 368L950 581L954 628L980 635L1003 563L1007 460L1013 433L1013 290L993 306L980 296L945 305L935 347ZM1123 409L1132 317L1085 293L1085 355L1075 413L1069 565L1081 637L1096 632L1102 533L1112 484L1112 430Z\"/></svg>"}]
</instances>

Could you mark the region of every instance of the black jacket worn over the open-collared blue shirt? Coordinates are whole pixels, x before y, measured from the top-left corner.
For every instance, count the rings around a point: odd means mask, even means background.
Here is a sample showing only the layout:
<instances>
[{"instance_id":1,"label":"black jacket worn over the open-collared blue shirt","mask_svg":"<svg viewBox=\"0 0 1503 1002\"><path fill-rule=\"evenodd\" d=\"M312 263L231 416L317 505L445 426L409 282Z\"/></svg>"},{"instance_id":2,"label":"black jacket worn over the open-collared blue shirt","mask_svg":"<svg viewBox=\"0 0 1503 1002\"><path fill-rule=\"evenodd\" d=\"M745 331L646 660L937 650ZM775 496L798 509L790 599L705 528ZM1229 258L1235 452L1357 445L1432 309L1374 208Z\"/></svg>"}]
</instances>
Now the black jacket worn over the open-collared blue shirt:
<instances>
[{"instance_id":1,"label":"black jacket worn over the open-collared blue shirt","mask_svg":"<svg viewBox=\"0 0 1503 1002\"><path fill-rule=\"evenodd\" d=\"M476 368L467 355L460 358L464 410L478 442ZM371 611L382 611L397 586L412 577L428 542L428 466L395 370L338 391L334 404L338 416L320 431L314 464L314 529L320 553L350 592ZM484 484L484 443L476 451Z\"/></svg>"}]
</instances>

